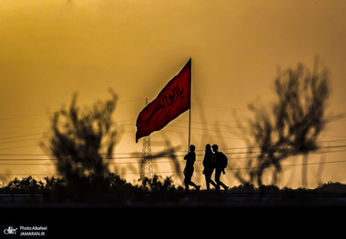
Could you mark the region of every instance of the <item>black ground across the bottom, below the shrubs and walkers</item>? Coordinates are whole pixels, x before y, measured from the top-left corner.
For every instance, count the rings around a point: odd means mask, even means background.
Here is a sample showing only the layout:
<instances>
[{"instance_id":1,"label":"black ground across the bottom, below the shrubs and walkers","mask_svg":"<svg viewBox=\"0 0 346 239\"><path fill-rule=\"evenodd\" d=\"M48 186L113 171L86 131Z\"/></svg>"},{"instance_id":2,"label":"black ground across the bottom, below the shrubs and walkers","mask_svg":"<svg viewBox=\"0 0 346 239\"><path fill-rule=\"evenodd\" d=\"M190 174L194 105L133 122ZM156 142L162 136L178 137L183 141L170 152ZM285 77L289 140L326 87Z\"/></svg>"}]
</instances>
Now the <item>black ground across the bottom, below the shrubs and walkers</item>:
<instances>
[{"instance_id":1,"label":"black ground across the bottom, below the shrubs and walkers","mask_svg":"<svg viewBox=\"0 0 346 239\"><path fill-rule=\"evenodd\" d=\"M2 232L9 225L27 224L48 226L46 237L41 238L118 238L119 234L131 238L146 234L186 238L187 234L193 234L197 238L210 232L234 237L236 232L249 236L280 230L282 235L297 229L301 234L304 229L313 228L316 232L320 225L325 229L329 223L340 223L346 212L346 195L341 194L201 191L182 195L175 202L121 204L25 202L27 197L16 196L15 202L0 203L0 238L4 238Z\"/></svg>"}]
</instances>

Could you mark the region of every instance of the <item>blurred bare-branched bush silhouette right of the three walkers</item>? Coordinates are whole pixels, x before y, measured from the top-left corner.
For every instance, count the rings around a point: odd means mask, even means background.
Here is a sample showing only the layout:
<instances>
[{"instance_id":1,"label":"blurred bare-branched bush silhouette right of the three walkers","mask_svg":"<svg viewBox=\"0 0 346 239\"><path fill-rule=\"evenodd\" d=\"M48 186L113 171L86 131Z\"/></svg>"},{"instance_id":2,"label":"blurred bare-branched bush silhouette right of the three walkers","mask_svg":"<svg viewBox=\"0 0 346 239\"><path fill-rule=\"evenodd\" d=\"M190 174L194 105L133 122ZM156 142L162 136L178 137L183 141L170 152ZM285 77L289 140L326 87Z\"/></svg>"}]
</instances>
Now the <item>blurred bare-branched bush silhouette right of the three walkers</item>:
<instances>
[{"instance_id":1,"label":"blurred bare-branched bush silhouette right of the three walkers","mask_svg":"<svg viewBox=\"0 0 346 239\"><path fill-rule=\"evenodd\" d=\"M316 57L312 72L299 64L279 73L275 91L277 100L269 107L249 105L254 114L249 120L251 137L247 140L249 170L247 174L240 170L235 174L243 184L262 185L263 175L271 172L271 183L276 184L281 163L289 156L302 154L302 186L306 187L308 154L319 149L318 136L335 119L326 115L331 95L328 71L318 71Z\"/></svg>"}]
</instances>

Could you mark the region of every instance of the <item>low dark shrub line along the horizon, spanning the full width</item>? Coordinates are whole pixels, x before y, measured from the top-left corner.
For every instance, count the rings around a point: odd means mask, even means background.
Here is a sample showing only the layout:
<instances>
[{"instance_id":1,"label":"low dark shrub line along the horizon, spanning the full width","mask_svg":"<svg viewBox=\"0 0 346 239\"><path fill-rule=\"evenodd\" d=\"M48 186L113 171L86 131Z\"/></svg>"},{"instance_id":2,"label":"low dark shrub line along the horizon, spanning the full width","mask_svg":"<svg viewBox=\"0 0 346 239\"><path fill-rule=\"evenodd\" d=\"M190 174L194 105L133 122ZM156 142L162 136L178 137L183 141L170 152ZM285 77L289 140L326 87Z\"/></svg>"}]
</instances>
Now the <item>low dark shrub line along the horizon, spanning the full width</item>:
<instances>
[{"instance_id":1,"label":"low dark shrub line along the horizon, spanning the full width","mask_svg":"<svg viewBox=\"0 0 346 239\"><path fill-rule=\"evenodd\" d=\"M88 184L94 184L93 175L90 174L86 177ZM334 204L335 198L343 197L346 194L346 184L328 182L327 184L321 184L314 189L297 188L291 189L288 187L279 188L277 185L260 185L258 187L254 184L240 184L237 186L229 187L228 194L217 194L215 189L211 191L197 191L191 190L188 194L182 186L174 184L171 177L163 179L161 176L154 175L153 178L144 178L141 180L141 184L129 184L126 180L121 179L118 175L109 173L104 178L104 184L102 192L94 196L93 194L76 194L72 192L72 188L66 184L66 180L63 178L45 177L44 182L37 181L32 176L14 180L8 184L0 186L0 205L5 206L7 203L13 204L70 204L70 203L93 203L93 204L114 204L120 206L196 206L197 204L207 206L219 206L224 202L224 205L234 204L233 195L237 197L248 196L249 201L256 202L258 205L260 198L265 194L276 194L279 197L275 202L291 202L294 204L297 200L300 202L306 201L306 196L310 196L310 200L315 198L317 201L322 194L328 195L331 199L329 203ZM96 188L93 188L96 190ZM215 191L215 192L214 192ZM214 192L214 193L213 193ZM27 195L20 201L15 198L8 197L8 195ZM243 194L243 195L241 195ZM4 195L7 200L4 201ZM256 196L255 198L252 197ZM252 198L252 199L251 199ZM282 198L283 201L280 201ZM243 200L243 199L242 199ZM253 200L253 201L251 201ZM265 202L265 201L264 201ZM309 201L314 202L314 201ZM159 204L157 204L159 203ZM315 202L316 203L316 202ZM326 203L326 202L325 202ZM328 204L329 204L328 203ZM236 203L237 204L237 203ZM245 203L246 204L246 203Z\"/></svg>"}]
</instances>

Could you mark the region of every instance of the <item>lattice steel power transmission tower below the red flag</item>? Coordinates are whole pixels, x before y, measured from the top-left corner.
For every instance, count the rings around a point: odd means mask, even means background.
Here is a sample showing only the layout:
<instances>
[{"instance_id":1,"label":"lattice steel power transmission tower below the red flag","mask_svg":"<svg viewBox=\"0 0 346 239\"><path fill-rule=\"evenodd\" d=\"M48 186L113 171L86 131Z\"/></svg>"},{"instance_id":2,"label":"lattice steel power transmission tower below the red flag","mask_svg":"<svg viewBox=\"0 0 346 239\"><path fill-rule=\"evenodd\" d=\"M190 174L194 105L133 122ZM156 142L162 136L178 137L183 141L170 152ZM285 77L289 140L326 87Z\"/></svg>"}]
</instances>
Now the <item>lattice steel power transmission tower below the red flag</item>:
<instances>
[{"instance_id":1,"label":"lattice steel power transmission tower below the red flag","mask_svg":"<svg viewBox=\"0 0 346 239\"><path fill-rule=\"evenodd\" d=\"M148 105L148 99L146 99L146 106ZM151 142L150 136L143 138L142 148L142 160L140 162L140 178L152 178L153 177L153 165L151 164Z\"/></svg>"}]
</instances>

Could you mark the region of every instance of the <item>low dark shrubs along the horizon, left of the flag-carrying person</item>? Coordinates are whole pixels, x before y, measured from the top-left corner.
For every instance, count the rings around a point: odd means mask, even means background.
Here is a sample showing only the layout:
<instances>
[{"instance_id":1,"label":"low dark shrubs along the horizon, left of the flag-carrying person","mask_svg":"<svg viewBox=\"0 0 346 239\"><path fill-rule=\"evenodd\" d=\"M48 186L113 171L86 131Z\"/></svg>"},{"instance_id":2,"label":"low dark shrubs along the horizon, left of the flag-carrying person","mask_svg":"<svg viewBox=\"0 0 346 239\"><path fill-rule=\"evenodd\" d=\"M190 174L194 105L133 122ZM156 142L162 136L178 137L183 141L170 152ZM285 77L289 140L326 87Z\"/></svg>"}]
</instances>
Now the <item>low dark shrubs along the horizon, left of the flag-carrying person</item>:
<instances>
[{"instance_id":1,"label":"low dark shrubs along the horizon, left of the flag-carrying person","mask_svg":"<svg viewBox=\"0 0 346 239\"><path fill-rule=\"evenodd\" d=\"M172 199L184 194L183 187L176 186L171 177L163 179L155 174L153 178L144 178L139 181L141 184L129 184L126 180L121 179L119 175L109 173L103 178L103 187L100 190L97 189L99 184L95 184L94 174L89 174L83 179L83 189L87 192L81 192L67 184L64 178L46 176L44 182L42 182L37 181L32 176L22 179L15 177L8 184L0 185L0 198L1 194L30 194L30 199L35 199L37 195L43 195L45 203L108 202L122 204L127 200L153 202ZM94 192L98 194L96 195ZM36 202L36 200L31 202Z\"/></svg>"}]
</instances>

